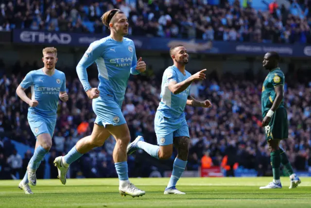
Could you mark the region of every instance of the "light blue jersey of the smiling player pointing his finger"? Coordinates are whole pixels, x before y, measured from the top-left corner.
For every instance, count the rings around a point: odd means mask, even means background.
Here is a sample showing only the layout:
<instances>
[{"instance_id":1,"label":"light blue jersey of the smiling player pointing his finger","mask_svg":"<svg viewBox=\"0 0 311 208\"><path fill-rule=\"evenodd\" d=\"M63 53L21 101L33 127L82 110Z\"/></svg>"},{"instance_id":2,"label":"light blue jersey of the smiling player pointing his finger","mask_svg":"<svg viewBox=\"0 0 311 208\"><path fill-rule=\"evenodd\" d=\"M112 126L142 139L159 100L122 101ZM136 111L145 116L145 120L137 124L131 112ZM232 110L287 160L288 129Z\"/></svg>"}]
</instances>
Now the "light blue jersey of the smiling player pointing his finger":
<instances>
[{"instance_id":1,"label":"light blue jersey of the smiling player pointing his finger","mask_svg":"<svg viewBox=\"0 0 311 208\"><path fill-rule=\"evenodd\" d=\"M191 74L186 70L185 72L186 75L175 66L171 66L164 71L161 87L161 102L157 108L157 111L163 117L177 119L185 115L184 110L188 96L190 95L190 86L176 95L174 95L168 87L168 84L172 81L180 83L188 79Z\"/></svg>"}]
</instances>

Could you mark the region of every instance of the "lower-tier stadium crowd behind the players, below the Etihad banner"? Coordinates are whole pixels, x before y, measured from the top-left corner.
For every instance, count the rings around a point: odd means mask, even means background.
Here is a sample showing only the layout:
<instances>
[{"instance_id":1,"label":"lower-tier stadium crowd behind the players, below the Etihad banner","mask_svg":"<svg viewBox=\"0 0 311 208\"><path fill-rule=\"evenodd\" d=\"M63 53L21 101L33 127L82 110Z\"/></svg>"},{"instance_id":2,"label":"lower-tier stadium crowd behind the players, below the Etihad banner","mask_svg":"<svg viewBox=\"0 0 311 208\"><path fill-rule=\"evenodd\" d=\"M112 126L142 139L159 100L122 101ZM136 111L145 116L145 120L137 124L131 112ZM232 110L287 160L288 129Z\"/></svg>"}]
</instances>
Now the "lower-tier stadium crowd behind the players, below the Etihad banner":
<instances>
[{"instance_id":1,"label":"lower-tier stadium crowd behind the players, below the Etihad banner","mask_svg":"<svg viewBox=\"0 0 311 208\"><path fill-rule=\"evenodd\" d=\"M91 67L94 67L91 66ZM27 104L17 98L16 88L23 76L33 65L13 66L12 74L6 74L4 64L0 60L0 175L10 175L23 170L31 157L28 151L19 156L11 139L35 146L27 121ZM68 69L60 69L68 71ZM96 72L95 68L89 70ZM159 103L161 74L145 74L138 78L131 76L122 112L128 122L131 138L142 135L147 142L156 143L154 132L154 115ZM72 73L73 74L73 73ZM92 86L97 86L96 74L90 74ZM258 175L268 174L270 170L270 154L261 127L260 94L265 72L255 76L252 73L239 75L224 74L219 80L216 73L208 75L208 80L191 85L190 93L199 100L209 99L213 107L186 107L186 118L190 129L190 153L187 170L198 170L201 158L207 156L211 165L221 166L224 156L227 165L238 163L246 169L255 169ZM282 142L289 160L295 170L306 171L311 166L311 74L307 72L290 72L285 77L285 104L288 107L289 139ZM59 101L57 124L50 151L50 160L67 153L85 135L91 133L95 114L91 100L80 81L67 73L67 92L69 101ZM138 87L139 86L139 87ZM30 96L30 90L27 91ZM71 177L117 177L112 160L115 141L109 138L102 148L94 149L70 166ZM152 171L163 173L171 170L172 158L161 161L138 153L128 158L129 176L148 177ZM134 159L135 158L135 159ZM149 162L148 162L149 161ZM42 166L42 167L41 167ZM42 178L44 163L37 171ZM7 173L7 174L5 174ZM8 174L9 173L9 174ZM41 175L41 176L40 176ZM51 168L52 178L57 176L56 168ZM9 176L8 176L9 177Z\"/></svg>"}]
</instances>

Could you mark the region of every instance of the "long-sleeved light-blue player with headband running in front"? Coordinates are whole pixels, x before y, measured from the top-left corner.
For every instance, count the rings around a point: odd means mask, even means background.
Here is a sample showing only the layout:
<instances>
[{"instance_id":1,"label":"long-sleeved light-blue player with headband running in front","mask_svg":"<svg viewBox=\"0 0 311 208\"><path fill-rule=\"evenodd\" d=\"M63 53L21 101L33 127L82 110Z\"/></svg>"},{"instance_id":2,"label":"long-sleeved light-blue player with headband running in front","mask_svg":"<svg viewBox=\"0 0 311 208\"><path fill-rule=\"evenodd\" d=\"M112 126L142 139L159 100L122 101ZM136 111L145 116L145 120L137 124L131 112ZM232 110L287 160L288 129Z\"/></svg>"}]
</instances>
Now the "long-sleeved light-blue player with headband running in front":
<instances>
[{"instance_id":1,"label":"long-sleeved light-blue player with headband running in front","mask_svg":"<svg viewBox=\"0 0 311 208\"><path fill-rule=\"evenodd\" d=\"M128 179L126 147L130 142L130 132L121 112L121 105L131 74L146 70L146 64L137 61L134 42L126 37L128 21L123 12L112 9L102 16L102 22L110 29L110 36L90 44L77 66L78 77L96 114L93 132L80 139L66 156L56 157L55 166L62 184L66 184L66 173L69 165L95 147L103 146L112 135L116 139L113 152L115 167L119 176L121 195L142 196L145 191L139 190ZM87 79L86 68L94 61L97 64L100 84L92 88Z\"/></svg>"}]
</instances>

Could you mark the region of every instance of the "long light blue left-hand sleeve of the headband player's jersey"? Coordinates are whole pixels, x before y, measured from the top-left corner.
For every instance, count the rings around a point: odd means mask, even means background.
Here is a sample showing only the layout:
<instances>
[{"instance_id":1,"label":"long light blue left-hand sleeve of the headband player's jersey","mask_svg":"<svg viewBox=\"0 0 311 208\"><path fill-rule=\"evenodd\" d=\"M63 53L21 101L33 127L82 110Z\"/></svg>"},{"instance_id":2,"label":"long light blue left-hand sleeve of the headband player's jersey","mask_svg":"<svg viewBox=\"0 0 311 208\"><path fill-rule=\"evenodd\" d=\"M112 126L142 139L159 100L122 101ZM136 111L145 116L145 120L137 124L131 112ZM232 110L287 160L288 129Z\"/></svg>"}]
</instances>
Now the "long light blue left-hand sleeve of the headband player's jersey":
<instances>
[{"instance_id":1,"label":"long light blue left-hand sleeve of the headband player's jersey","mask_svg":"<svg viewBox=\"0 0 311 208\"><path fill-rule=\"evenodd\" d=\"M86 68L93 64L97 58L101 57L103 52L104 44L102 42L95 41L89 45L88 49L77 65L77 74L85 91L92 88L88 82Z\"/></svg>"}]
</instances>

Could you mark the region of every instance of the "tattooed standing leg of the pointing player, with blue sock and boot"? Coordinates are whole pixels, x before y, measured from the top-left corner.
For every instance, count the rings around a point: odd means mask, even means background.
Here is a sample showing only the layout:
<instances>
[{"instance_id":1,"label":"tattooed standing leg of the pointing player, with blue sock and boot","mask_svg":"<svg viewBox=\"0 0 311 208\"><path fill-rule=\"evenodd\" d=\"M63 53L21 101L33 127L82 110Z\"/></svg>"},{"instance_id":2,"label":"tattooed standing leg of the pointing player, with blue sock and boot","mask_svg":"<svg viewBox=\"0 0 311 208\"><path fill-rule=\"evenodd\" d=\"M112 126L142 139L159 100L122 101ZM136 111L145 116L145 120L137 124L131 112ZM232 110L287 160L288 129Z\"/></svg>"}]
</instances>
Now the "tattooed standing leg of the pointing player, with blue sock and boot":
<instances>
[{"instance_id":1,"label":"tattooed standing leg of the pointing player, with blue sock and boot","mask_svg":"<svg viewBox=\"0 0 311 208\"><path fill-rule=\"evenodd\" d=\"M177 157L174 160L172 176L164 194L185 194L176 189L176 183L187 165L189 141L189 137L176 137L173 139L174 146L177 149Z\"/></svg>"}]
</instances>

